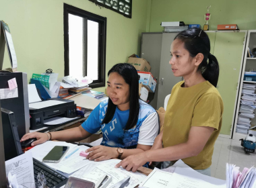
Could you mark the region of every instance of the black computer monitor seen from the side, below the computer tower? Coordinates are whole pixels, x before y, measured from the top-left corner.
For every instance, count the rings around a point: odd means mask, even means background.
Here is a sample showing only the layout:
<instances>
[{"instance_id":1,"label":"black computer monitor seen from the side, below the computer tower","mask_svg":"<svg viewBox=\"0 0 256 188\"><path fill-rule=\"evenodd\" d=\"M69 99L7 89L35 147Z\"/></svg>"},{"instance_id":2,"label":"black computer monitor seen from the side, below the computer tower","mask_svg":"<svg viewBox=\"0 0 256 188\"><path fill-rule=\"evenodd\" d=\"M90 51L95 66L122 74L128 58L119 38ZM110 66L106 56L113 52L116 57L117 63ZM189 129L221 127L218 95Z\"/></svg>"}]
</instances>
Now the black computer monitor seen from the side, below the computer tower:
<instances>
[{"instance_id":1,"label":"black computer monitor seen from the side, below the computer tower","mask_svg":"<svg viewBox=\"0 0 256 188\"><path fill-rule=\"evenodd\" d=\"M15 116L12 111L1 108L2 123L3 123L3 144L5 148L5 160L9 160L23 154L18 135Z\"/></svg>"}]
</instances>

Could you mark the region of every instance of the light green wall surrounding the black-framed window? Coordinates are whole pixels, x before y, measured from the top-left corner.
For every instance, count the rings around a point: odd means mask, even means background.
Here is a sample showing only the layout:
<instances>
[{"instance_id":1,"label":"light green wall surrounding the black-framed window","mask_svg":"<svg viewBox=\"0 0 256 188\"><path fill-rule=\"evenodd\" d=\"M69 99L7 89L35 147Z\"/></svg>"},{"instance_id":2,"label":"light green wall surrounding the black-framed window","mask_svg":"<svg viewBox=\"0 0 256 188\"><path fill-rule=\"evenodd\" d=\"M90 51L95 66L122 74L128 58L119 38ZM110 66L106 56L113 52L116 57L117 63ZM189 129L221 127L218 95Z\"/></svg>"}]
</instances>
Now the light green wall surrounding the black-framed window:
<instances>
[{"instance_id":1,"label":"light green wall surrounding the black-framed window","mask_svg":"<svg viewBox=\"0 0 256 188\"><path fill-rule=\"evenodd\" d=\"M18 71L44 73L52 68L64 76L63 3L107 17L106 73L118 62L127 62L133 53L139 54L141 32L149 23L148 0L133 0L132 19L100 8L88 0L0 0L0 19L11 30L18 59ZM3 67L10 67L5 49ZM104 91L104 87L96 89Z\"/></svg>"}]
</instances>

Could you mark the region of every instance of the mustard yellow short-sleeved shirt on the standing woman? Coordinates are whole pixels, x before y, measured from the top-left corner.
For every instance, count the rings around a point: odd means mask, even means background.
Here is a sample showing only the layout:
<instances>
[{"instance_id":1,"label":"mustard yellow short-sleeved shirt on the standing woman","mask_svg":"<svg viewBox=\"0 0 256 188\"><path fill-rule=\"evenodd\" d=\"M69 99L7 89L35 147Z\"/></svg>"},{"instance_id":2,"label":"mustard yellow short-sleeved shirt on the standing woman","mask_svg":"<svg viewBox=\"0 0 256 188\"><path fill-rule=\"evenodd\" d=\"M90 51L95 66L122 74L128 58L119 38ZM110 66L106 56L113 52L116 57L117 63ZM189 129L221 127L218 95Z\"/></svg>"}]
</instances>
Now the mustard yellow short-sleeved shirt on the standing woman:
<instances>
[{"instance_id":1,"label":"mustard yellow short-sleeved shirt on the standing woman","mask_svg":"<svg viewBox=\"0 0 256 188\"><path fill-rule=\"evenodd\" d=\"M214 143L222 127L222 97L208 81L192 87L182 87L183 83L181 81L172 88L164 115L163 146L166 148L187 142L193 126L214 128L212 136L197 156L182 159L193 169L207 169L212 164Z\"/></svg>"}]
</instances>

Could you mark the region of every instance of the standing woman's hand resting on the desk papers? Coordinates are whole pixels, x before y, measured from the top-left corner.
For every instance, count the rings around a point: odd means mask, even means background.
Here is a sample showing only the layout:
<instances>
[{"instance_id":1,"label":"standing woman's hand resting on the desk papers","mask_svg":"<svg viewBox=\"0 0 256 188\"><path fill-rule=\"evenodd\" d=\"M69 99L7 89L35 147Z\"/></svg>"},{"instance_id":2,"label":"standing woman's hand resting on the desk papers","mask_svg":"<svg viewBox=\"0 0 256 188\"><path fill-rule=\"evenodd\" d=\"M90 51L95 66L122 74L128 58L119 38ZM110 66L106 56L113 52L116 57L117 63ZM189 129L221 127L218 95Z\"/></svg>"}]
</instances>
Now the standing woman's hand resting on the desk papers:
<instances>
[{"instance_id":1,"label":"standing woman's hand resting on the desk papers","mask_svg":"<svg viewBox=\"0 0 256 188\"><path fill-rule=\"evenodd\" d=\"M123 169L126 169L127 171L133 171L135 173L139 167L142 167L143 164L148 162L146 160L146 154L145 152L141 152L138 154L133 154L119 162L115 167L123 167Z\"/></svg>"}]
</instances>

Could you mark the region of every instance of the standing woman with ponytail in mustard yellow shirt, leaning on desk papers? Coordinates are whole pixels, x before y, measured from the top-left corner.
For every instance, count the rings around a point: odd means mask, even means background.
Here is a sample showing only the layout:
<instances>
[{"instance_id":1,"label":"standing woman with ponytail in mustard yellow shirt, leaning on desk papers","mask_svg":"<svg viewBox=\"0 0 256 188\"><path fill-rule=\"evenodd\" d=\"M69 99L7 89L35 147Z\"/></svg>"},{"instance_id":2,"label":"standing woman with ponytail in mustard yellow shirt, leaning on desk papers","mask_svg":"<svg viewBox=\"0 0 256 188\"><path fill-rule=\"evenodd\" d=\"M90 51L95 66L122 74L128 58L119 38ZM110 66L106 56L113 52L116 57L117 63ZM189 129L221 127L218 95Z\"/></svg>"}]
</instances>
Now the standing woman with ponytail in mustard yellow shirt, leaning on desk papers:
<instances>
[{"instance_id":1,"label":"standing woman with ponytail in mustard yellow shirt, leaning on desk papers","mask_svg":"<svg viewBox=\"0 0 256 188\"><path fill-rule=\"evenodd\" d=\"M148 161L170 161L171 165L182 159L196 171L210 175L223 113L222 97L216 89L218 61L210 54L207 34L199 29L179 33L172 42L170 55L172 73L184 81L172 88L164 128L151 150L128 156L116 167L135 172Z\"/></svg>"}]
</instances>

